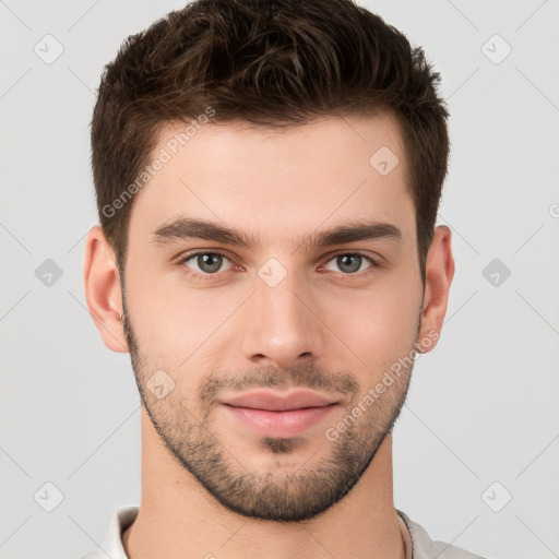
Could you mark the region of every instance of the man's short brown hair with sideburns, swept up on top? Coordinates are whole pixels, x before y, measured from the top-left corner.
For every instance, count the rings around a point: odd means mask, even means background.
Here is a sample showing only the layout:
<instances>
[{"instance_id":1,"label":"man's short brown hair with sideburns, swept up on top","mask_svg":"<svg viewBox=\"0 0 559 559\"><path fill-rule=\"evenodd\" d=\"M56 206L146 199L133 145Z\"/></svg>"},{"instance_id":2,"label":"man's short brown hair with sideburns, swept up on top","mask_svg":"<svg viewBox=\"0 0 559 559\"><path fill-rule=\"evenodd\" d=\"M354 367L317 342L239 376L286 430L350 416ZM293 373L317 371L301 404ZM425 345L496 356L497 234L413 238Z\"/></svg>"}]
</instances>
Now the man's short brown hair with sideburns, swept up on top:
<instances>
[{"instance_id":1,"label":"man's short brown hair with sideburns, swept up on top","mask_svg":"<svg viewBox=\"0 0 559 559\"><path fill-rule=\"evenodd\" d=\"M209 107L214 122L271 127L388 110L403 134L425 283L450 150L439 81L420 47L353 0L195 0L170 12L122 44L93 112L97 209L119 264L133 205L122 194L164 124Z\"/></svg>"}]
</instances>

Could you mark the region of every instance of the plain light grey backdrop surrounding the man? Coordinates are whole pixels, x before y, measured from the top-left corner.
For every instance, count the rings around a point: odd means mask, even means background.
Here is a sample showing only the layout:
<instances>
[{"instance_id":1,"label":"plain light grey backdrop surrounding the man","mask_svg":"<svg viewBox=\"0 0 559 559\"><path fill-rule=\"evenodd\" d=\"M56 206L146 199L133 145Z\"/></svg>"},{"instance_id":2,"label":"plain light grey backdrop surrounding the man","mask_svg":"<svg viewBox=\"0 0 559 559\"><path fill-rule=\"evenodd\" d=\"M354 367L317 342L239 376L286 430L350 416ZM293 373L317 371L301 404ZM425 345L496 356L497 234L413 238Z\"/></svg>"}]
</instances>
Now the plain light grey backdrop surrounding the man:
<instances>
[{"instance_id":1,"label":"plain light grey backdrop surrounding the man","mask_svg":"<svg viewBox=\"0 0 559 559\"><path fill-rule=\"evenodd\" d=\"M425 47L451 111L456 275L395 429L395 504L484 556L559 557L559 3L361 4ZM79 557L140 499L129 356L103 345L82 284L88 123L121 41L181 5L0 0L0 558Z\"/></svg>"}]
</instances>

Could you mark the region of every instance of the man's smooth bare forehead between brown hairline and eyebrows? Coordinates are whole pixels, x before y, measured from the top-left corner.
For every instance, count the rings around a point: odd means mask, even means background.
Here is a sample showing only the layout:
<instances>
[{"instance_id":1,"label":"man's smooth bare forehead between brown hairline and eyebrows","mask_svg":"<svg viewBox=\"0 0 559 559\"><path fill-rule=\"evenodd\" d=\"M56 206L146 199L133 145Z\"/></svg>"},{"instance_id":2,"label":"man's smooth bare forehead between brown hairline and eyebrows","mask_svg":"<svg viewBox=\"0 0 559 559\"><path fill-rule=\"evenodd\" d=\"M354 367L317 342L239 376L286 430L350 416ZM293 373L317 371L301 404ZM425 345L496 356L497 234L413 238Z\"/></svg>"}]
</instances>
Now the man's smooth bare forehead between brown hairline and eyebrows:
<instances>
[{"instance_id":1,"label":"man's smooth bare forehead between brown hairline and eyebrows","mask_svg":"<svg viewBox=\"0 0 559 559\"><path fill-rule=\"evenodd\" d=\"M285 240L347 221L397 223L415 215L400 128L388 114L330 117L294 128L247 122L163 128L158 169L138 192L130 235L179 217L241 226ZM194 133L192 133L192 131Z\"/></svg>"}]
</instances>

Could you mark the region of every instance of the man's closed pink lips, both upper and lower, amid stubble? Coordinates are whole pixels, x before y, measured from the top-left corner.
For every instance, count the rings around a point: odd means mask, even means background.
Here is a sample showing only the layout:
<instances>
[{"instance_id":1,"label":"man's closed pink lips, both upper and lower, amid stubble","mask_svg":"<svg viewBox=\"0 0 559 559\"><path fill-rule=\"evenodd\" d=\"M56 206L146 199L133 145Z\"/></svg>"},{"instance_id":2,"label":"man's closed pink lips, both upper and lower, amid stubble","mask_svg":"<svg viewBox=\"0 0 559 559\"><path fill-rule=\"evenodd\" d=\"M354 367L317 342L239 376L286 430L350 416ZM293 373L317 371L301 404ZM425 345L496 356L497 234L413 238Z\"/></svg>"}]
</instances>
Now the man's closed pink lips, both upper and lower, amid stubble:
<instances>
[{"instance_id":1,"label":"man's closed pink lips, both upper and lower, amid stubble","mask_svg":"<svg viewBox=\"0 0 559 559\"><path fill-rule=\"evenodd\" d=\"M230 417L252 432L265 437L296 437L318 425L338 402L309 391L287 395L252 392L223 402Z\"/></svg>"}]
</instances>

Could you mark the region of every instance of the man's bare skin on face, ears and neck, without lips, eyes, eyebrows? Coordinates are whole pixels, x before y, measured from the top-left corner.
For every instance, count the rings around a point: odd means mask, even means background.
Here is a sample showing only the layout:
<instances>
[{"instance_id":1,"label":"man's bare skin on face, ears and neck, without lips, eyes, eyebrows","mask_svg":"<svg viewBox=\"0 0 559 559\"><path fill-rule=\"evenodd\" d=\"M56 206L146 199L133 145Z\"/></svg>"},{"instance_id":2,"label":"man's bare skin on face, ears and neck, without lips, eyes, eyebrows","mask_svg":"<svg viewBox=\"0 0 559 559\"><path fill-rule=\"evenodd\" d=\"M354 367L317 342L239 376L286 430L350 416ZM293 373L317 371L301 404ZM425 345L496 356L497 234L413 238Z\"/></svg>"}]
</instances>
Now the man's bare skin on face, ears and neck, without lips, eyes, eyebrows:
<instances>
[{"instance_id":1,"label":"man's bare skin on face, ears and neck, without lips, eyes, eyebrows","mask_svg":"<svg viewBox=\"0 0 559 559\"><path fill-rule=\"evenodd\" d=\"M177 130L163 129L154 154ZM381 146L400 159L386 176L369 164ZM206 124L136 194L123 277L102 228L92 228L87 305L107 347L131 353L142 395L142 498L123 535L129 557L404 557L391 429L413 366L336 440L325 431L399 358L431 350L442 328L451 231L436 229L424 289L406 173L388 114L288 130ZM241 229L259 246L154 242L179 216ZM402 238L300 243L357 219L392 224ZM216 249L227 258L213 275L186 260ZM381 265L362 259L348 272L336 257L356 251ZM286 271L274 287L258 274L271 258ZM160 400L147 388L157 370L175 383ZM219 403L259 386L311 388L338 405L297 438L264 438Z\"/></svg>"}]
</instances>

